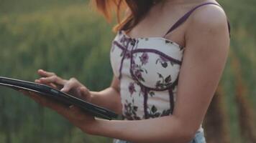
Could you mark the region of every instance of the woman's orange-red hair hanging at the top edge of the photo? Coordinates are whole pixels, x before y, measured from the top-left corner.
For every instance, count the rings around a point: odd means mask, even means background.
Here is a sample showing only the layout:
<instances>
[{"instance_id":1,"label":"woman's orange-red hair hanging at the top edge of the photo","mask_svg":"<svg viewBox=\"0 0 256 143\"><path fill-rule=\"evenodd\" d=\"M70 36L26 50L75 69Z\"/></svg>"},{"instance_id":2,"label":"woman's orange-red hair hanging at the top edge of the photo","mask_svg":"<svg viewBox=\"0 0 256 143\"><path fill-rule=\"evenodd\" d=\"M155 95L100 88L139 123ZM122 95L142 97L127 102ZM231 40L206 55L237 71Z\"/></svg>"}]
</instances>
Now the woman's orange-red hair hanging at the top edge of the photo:
<instances>
[{"instance_id":1,"label":"woman's orange-red hair hanging at the top edge of the photo","mask_svg":"<svg viewBox=\"0 0 256 143\"><path fill-rule=\"evenodd\" d=\"M94 0L94 2L98 11L104 14L108 21L111 20L112 11L115 12L118 24L114 26L114 31L131 30L154 4L153 0ZM124 15L127 8L130 12L127 16L123 16L121 21L121 15Z\"/></svg>"}]
</instances>

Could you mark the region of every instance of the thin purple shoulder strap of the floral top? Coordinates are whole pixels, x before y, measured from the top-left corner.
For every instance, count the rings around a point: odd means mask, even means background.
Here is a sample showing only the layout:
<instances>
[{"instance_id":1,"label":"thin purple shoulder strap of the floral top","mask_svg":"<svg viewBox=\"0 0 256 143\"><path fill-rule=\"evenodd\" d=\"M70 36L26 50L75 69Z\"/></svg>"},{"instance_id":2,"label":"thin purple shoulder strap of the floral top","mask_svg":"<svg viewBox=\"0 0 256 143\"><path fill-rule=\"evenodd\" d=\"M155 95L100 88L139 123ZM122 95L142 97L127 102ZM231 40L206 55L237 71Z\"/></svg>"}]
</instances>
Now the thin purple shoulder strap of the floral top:
<instances>
[{"instance_id":1,"label":"thin purple shoulder strap of the floral top","mask_svg":"<svg viewBox=\"0 0 256 143\"><path fill-rule=\"evenodd\" d=\"M215 4L215 3L212 3L212 2L208 2L208 3L204 3L204 4L200 4L196 7L194 7L193 9L191 9L190 11L188 11L184 16L182 16L180 19L178 19L178 21L173 24L173 26L167 31L167 33L165 34L165 36L167 34L169 34L171 31L173 31L174 29L178 28L178 26L180 26L181 24L183 24L189 16L191 16L191 14L193 13L193 11L195 11L196 9L198 9L199 7L201 6L205 6L205 5L208 5L208 4L214 4L216 6L220 6L219 4ZM230 29L230 28L229 28ZM165 37L164 36L164 37Z\"/></svg>"}]
</instances>

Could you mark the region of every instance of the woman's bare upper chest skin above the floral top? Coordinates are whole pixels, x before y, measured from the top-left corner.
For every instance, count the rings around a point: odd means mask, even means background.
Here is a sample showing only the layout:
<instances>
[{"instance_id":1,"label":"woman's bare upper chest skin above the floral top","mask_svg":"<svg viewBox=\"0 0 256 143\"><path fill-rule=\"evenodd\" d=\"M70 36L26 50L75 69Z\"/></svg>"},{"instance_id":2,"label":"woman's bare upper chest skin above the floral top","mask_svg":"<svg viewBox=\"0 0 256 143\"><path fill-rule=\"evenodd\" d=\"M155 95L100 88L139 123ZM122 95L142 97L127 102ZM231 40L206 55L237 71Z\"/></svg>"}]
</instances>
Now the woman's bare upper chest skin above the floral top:
<instances>
[{"instance_id":1,"label":"woman's bare upper chest skin above the floral top","mask_svg":"<svg viewBox=\"0 0 256 143\"><path fill-rule=\"evenodd\" d=\"M143 19L129 31L130 37L165 37L185 46L186 24L167 34L167 31L188 11L190 6L153 6ZM166 34L166 35L165 35Z\"/></svg>"}]
</instances>

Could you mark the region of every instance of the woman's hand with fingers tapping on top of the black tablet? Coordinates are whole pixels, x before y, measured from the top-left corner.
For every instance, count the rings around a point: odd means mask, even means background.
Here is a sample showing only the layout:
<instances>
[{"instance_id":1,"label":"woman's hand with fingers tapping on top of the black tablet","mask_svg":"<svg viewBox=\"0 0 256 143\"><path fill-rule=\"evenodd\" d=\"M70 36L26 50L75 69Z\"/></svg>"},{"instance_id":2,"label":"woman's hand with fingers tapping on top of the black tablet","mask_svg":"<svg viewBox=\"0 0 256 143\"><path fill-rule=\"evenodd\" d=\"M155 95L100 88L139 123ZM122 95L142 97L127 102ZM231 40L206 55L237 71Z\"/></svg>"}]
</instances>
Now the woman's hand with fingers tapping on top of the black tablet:
<instances>
[{"instance_id":1,"label":"woman's hand with fingers tapping on top of the black tablet","mask_svg":"<svg viewBox=\"0 0 256 143\"><path fill-rule=\"evenodd\" d=\"M90 91L85 86L83 86L83 84L78 82L77 79L62 79L58 77L55 73L44 71L42 69L39 69L37 72L41 78L36 79L36 83L47 84L50 87L59 89L61 92L65 92L80 99L84 99L87 102L91 102L92 95Z\"/></svg>"}]
</instances>

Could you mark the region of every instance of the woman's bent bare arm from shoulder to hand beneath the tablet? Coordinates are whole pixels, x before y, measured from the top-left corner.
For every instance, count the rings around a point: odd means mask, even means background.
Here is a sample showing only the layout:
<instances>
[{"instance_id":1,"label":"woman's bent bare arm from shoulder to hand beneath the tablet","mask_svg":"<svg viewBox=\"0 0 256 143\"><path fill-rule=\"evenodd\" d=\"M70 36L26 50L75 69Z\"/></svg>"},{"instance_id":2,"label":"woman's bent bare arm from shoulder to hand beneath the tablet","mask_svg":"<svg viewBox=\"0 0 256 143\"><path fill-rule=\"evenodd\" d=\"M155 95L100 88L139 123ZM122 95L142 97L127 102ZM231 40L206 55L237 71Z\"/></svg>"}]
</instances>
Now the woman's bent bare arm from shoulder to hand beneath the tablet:
<instances>
[{"instance_id":1,"label":"woman's bent bare arm from shoulder to hand beneath the tablet","mask_svg":"<svg viewBox=\"0 0 256 143\"><path fill-rule=\"evenodd\" d=\"M213 11L214 12L213 12ZM130 142L189 142L204 119L221 78L229 51L227 19L221 9L202 10L191 17L180 67L173 115L140 121L94 119L80 109L66 109L30 94L88 134Z\"/></svg>"}]
</instances>

